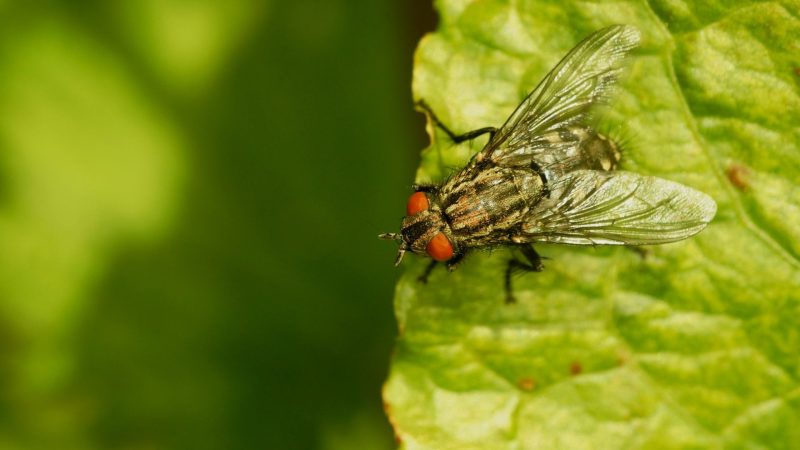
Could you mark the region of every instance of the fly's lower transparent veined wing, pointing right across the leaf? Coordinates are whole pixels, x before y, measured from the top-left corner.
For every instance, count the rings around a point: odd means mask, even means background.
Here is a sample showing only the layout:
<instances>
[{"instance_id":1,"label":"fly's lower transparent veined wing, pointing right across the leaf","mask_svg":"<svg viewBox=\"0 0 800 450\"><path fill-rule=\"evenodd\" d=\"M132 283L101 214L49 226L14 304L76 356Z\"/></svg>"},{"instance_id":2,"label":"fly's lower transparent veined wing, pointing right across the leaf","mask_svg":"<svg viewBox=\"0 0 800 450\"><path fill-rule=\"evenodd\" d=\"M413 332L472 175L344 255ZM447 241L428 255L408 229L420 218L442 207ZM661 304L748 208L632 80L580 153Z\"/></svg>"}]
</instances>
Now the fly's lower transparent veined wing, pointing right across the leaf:
<instances>
[{"instance_id":1,"label":"fly's lower transparent veined wing, pointing right across the leaf","mask_svg":"<svg viewBox=\"0 0 800 450\"><path fill-rule=\"evenodd\" d=\"M522 227L522 240L645 245L700 232L716 214L706 194L631 172L577 170L552 184Z\"/></svg>"}]
</instances>

